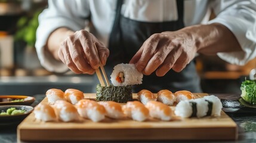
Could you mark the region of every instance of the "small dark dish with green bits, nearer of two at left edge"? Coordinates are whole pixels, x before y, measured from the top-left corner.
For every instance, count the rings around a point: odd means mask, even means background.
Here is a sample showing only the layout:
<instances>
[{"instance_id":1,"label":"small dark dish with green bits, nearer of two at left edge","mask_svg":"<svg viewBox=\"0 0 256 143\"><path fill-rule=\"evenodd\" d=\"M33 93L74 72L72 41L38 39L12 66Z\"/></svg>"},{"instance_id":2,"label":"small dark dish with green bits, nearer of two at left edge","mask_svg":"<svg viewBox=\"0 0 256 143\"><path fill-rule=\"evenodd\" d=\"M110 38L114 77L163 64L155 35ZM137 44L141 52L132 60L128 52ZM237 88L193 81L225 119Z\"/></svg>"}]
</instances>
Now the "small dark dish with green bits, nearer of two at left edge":
<instances>
[{"instance_id":1,"label":"small dark dish with green bits, nearer of two at left edge","mask_svg":"<svg viewBox=\"0 0 256 143\"><path fill-rule=\"evenodd\" d=\"M1 105L0 114L2 112L7 112L8 108L16 108L16 110L25 110L23 114L14 114L14 115L0 115L1 123L10 123L10 122L21 122L25 117L27 117L33 111L32 106L27 105Z\"/></svg>"}]
</instances>

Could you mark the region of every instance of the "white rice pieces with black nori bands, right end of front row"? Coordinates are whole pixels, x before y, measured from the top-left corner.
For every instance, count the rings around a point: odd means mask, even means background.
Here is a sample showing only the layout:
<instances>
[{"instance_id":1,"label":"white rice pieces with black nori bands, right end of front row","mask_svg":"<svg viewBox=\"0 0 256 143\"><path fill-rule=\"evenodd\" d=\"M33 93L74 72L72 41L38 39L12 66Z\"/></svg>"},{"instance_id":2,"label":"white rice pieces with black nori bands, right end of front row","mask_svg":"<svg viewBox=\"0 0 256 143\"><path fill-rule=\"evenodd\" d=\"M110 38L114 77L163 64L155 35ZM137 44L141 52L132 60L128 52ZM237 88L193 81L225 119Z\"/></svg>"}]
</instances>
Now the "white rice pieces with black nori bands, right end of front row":
<instances>
[{"instance_id":1,"label":"white rice pieces with black nori bands, right end of front row","mask_svg":"<svg viewBox=\"0 0 256 143\"><path fill-rule=\"evenodd\" d=\"M175 114L181 117L220 116L221 101L214 95L178 102Z\"/></svg>"}]
</instances>

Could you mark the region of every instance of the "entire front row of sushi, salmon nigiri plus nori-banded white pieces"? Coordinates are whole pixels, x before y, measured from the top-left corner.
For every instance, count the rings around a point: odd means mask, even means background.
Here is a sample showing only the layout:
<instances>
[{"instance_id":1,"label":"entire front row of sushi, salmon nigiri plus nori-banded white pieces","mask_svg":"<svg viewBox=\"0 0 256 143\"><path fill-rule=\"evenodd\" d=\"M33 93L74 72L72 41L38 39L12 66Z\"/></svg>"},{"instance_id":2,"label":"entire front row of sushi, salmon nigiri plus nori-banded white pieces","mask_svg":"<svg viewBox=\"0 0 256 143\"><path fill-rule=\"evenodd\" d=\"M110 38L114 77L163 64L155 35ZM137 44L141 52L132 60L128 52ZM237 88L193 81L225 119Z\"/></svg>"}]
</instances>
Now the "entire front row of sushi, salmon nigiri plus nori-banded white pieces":
<instances>
[{"instance_id":1,"label":"entire front row of sushi, salmon nigiri plus nori-banded white pieces","mask_svg":"<svg viewBox=\"0 0 256 143\"><path fill-rule=\"evenodd\" d=\"M195 100L180 101L174 113L180 117L220 116L222 107L220 99L211 95ZM99 122L105 116L112 119L129 117L137 121L144 121L149 117L171 120L173 116L172 109L158 101L149 101L146 105L139 101L129 101L121 106L113 101L80 100L77 104L72 105L67 101L58 100L53 107L48 104L39 104L34 113L36 119L44 122L50 120L69 122L79 120L79 115L91 119L93 122Z\"/></svg>"}]
</instances>

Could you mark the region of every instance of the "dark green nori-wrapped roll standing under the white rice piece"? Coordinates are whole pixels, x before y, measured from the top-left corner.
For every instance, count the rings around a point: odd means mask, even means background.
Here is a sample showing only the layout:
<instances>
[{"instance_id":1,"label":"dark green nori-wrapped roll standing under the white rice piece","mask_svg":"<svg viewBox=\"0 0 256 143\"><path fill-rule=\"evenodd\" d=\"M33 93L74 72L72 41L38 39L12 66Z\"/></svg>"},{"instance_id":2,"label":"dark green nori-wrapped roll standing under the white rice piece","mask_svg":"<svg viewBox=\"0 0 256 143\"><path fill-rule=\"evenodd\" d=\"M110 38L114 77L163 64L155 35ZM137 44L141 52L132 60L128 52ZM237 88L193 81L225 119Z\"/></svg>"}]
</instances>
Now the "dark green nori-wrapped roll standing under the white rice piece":
<instances>
[{"instance_id":1,"label":"dark green nori-wrapped roll standing under the white rice piece","mask_svg":"<svg viewBox=\"0 0 256 143\"><path fill-rule=\"evenodd\" d=\"M96 87L96 101L115 101L126 103L132 100L131 86L101 86Z\"/></svg>"}]
</instances>

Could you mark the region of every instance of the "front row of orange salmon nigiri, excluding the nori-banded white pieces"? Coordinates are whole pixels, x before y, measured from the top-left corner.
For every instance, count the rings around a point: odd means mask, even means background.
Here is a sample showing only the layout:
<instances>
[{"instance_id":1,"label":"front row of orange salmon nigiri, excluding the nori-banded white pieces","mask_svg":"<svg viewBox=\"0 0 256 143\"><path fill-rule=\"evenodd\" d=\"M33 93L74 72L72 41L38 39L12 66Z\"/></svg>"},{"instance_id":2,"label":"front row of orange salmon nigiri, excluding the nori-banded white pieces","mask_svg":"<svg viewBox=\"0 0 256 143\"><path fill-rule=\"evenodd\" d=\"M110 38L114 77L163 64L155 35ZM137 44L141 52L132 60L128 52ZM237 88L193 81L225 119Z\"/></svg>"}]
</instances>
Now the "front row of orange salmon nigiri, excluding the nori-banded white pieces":
<instances>
[{"instance_id":1,"label":"front row of orange salmon nigiri, excluding the nori-banded white pieces","mask_svg":"<svg viewBox=\"0 0 256 143\"><path fill-rule=\"evenodd\" d=\"M39 104L35 107L35 118L44 122L61 120L70 122L79 120L79 116L90 119L93 122L103 120L105 116L112 119L124 119L144 121L149 117L161 120L171 120L173 111L168 105L157 101L149 101L143 105L139 101L129 101L121 106L114 101L80 100L75 105L70 102L58 100L54 105Z\"/></svg>"}]
</instances>

